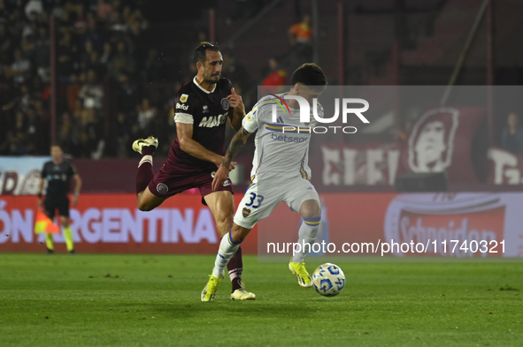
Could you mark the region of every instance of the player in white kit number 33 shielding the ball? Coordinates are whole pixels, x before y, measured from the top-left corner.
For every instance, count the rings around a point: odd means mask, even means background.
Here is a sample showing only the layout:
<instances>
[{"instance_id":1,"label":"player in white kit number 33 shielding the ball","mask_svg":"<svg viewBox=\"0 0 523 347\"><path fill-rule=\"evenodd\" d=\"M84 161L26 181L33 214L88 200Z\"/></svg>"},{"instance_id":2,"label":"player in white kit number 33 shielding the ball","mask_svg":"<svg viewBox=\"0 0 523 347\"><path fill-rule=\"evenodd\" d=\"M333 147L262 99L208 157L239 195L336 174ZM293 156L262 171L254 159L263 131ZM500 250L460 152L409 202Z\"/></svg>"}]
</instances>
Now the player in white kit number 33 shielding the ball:
<instances>
[{"instance_id":1,"label":"player in white kit number 33 shielding the ball","mask_svg":"<svg viewBox=\"0 0 523 347\"><path fill-rule=\"evenodd\" d=\"M311 129L316 124L313 112L323 117L323 108L313 100L327 87L327 78L318 65L304 64L293 73L291 83L287 94L263 97L243 118L242 128L231 140L224 161L216 171L212 189L218 188L227 179L229 164L250 134L258 130L252 162L252 184L236 210L232 230L221 239L212 275L202 291L202 301L214 299L227 263L236 249L254 225L270 215L281 201L304 219L298 231L300 245L311 245L318 235L321 207L318 192L311 185L311 170L307 162ZM311 105L311 124L300 122L299 102L293 96L300 96ZM288 268L296 274L298 284L304 288L312 286L311 275L304 263L308 251L308 247L304 246L302 252L296 253L288 264Z\"/></svg>"}]
</instances>

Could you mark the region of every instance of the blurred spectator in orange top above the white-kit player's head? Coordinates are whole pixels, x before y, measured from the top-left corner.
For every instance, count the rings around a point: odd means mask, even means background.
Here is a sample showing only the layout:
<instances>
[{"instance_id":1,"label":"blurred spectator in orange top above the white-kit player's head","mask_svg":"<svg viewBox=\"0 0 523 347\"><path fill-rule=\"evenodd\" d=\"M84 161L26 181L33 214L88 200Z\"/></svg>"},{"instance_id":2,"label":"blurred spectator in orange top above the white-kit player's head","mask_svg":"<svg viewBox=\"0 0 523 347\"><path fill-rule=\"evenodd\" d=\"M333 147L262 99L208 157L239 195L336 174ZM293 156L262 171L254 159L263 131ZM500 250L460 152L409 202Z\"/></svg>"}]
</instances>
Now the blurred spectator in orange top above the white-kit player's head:
<instances>
[{"instance_id":1,"label":"blurred spectator in orange top above the white-kit player's head","mask_svg":"<svg viewBox=\"0 0 523 347\"><path fill-rule=\"evenodd\" d=\"M292 45L291 60L296 66L312 61L312 26L311 16L304 15L304 19L288 29L288 40Z\"/></svg>"}]
</instances>

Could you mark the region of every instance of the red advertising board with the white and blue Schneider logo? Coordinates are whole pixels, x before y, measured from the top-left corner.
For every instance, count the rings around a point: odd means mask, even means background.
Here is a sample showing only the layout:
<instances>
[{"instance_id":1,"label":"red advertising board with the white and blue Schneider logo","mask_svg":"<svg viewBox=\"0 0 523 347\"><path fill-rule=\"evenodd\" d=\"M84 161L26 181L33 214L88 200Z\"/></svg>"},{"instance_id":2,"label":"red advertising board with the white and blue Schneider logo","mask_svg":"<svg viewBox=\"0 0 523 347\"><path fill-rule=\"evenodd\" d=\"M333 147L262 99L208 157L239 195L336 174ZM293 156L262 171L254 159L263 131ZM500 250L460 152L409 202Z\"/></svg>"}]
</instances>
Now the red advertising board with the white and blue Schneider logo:
<instances>
[{"instance_id":1,"label":"red advertising board with the white and blue Schneider logo","mask_svg":"<svg viewBox=\"0 0 523 347\"><path fill-rule=\"evenodd\" d=\"M336 261L523 256L523 193L324 193L320 199L318 247L311 251ZM258 223L258 255L271 261L292 254L299 226L300 216L281 204Z\"/></svg>"}]
</instances>

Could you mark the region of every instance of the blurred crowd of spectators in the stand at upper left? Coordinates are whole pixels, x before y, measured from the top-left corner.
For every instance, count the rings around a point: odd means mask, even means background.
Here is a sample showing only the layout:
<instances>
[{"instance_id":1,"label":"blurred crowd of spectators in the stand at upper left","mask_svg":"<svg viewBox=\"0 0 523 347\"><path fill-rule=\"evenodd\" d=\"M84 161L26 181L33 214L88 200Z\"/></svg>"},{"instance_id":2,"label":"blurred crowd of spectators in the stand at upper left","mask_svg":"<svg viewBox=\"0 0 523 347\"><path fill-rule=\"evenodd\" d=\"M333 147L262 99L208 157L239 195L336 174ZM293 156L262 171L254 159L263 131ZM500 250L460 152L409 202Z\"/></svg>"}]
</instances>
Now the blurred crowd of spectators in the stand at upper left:
<instances>
[{"instance_id":1,"label":"blurred crowd of spectators in the stand at upper left","mask_svg":"<svg viewBox=\"0 0 523 347\"><path fill-rule=\"evenodd\" d=\"M49 153L51 18L56 23L56 133L66 153L125 157L136 136L168 131L158 119L167 117L168 101L157 97L158 109L142 90L144 82L160 79L163 68L158 49L147 43L142 4L0 0L0 155ZM118 113L107 117L114 109Z\"/></svg>"}]
</instances>

